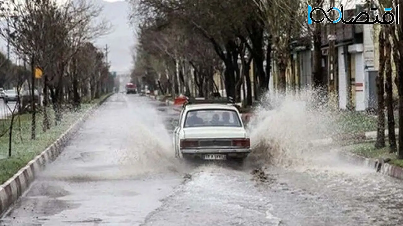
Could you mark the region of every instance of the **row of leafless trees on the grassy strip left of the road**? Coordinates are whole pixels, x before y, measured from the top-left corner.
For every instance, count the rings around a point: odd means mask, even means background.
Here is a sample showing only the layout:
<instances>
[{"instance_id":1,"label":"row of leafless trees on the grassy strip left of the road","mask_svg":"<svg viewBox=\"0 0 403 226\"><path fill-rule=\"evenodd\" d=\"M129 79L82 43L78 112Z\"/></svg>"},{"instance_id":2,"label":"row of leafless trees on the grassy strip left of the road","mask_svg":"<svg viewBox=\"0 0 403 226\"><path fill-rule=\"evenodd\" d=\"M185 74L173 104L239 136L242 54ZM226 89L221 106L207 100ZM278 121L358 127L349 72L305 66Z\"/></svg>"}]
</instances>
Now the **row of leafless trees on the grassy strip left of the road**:
<instances>
[{"instance_id":1,"label":"row of leafless trees on the grassy strip left of the road","mask_svg":"<svg viewBox=\"0 0 403 226\"><path fill-rule=\"evenodd\" d=\"M62 4L56 0L22 0L3 1L0 10L0 35L27 65L27 76L8 79L17 90L23 84L29 86L29 99L22 101L30 106L22 111L27 109L32 114L32 139L39 105L46 131L51 126L48 111L54 111L57 124L67 108L79 109L83 99L96 99L112 91L109 65L102 50L93 44L110 31L110 25L100 20L102 8L86 0ZM35 68L42 69L41 78L35 78ZM43 95L42 104L37 105L35 93Z\"/></svg>"}]
</instances>

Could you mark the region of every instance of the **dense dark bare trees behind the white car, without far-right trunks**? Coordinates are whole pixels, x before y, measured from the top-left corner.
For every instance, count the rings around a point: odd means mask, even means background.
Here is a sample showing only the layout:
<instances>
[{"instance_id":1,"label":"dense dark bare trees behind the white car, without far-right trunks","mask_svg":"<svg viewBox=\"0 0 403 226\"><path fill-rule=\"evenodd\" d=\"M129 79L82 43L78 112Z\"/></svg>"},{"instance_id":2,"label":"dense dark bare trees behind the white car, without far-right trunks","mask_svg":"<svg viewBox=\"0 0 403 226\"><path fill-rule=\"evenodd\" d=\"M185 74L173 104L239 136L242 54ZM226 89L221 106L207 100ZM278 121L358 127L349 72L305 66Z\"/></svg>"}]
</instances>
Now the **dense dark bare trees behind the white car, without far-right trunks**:
<instances>
[{"instance_id":1,"label":"dense dark bare trees behind the white car, without far-right trunks","mask_svg":"<svg viewBox=\"0 0 403 226\"><path fill-rule=\"evenodd\" d=\"M158 88L172 94L182 91L181 87L188 90L186 77L190 76L199 96L211 95L218 87L213 80L218 72L224 75L227 96L239 100L246 86L245 104L251 105L253 97L258 100L268 90L273 63L280 70L280 91L285 91L291 42L303 32L312 37L315 34L315 29L303 29L306 16L301 0L131 3L132 17L140 21L133 77L157 79ZM315 86L322 86L322 81L316 79ZM252 84L256 86L253 89Z\"/></svg>"}]
</instances>

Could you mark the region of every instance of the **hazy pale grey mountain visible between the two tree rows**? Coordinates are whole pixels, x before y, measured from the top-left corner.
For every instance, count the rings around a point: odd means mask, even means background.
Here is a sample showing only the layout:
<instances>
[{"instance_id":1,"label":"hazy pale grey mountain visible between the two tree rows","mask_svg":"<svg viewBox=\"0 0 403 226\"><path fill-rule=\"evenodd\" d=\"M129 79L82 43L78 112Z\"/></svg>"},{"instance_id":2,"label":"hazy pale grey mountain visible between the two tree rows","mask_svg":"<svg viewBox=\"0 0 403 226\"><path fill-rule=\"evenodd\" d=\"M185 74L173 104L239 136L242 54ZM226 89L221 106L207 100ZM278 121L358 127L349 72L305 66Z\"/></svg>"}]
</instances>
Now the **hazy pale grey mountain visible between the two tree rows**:
<instances>
[{"instance_id":1,"label":"hazy pale grey mountain visible between the two tree rows","mask_svg":"<svg viewBox=\"0 0 403 226\"><path fill-rule=\"evenodd\" d=\"M107 2L104 0L92 0L95 4L103 6L102 17L112 25L112 33L98 39L96 45L105 48L108 45L108 58L111 62L111 70L120 73L128 73L132 65L131 49L135 44L134 29L129 25L130 6L125 1ZM6 54L6 41L0 39L0 51ZM11 60L14 56L11 54Z\"/></svg>"}]
</instances>

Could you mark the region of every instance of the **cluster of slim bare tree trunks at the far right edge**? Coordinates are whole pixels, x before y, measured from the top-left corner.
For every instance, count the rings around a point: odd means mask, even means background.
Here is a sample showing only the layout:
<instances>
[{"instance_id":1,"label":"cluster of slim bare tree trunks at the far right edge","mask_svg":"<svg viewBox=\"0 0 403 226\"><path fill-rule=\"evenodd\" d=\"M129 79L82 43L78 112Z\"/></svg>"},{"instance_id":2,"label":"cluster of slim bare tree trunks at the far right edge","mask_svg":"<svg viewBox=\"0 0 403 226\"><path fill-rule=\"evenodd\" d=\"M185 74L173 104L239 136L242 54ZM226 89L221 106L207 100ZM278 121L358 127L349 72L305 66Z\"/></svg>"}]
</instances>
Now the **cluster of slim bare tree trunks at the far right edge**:
<instances>
[{"instance_id":1,"label":"cluster of slim bare tree trunks at the far right edge","mask_svg":"<svg viewBox=\"0 0 403 226\"><path fill-rule=\"evenodd\" d=\"M384 8L401 5L403 1L368 0L366 4L368 7L377 7L382 10L381 13L384 13ZM399 10L399 14L396 17L401 21L403 19L403 12ZM399 119L403 116L403 24L379 25L376 28L374 38L379 42L379 72L376 78L378 91L378 129L375 147L383 148L386 146L384 112L386 108L390 152L397 152L398 158L403 159L403 132L401 132L403 131L403 120L399 120L398 127L400 132L398 142L396 142L395 115L393 111L395 109L393 86L396 86L398 91L397 107L399 109ZM392 65L394 65L394 68ZM395 79L393 80L392 77L395 77Z\"/></svg>"}]
</instances>

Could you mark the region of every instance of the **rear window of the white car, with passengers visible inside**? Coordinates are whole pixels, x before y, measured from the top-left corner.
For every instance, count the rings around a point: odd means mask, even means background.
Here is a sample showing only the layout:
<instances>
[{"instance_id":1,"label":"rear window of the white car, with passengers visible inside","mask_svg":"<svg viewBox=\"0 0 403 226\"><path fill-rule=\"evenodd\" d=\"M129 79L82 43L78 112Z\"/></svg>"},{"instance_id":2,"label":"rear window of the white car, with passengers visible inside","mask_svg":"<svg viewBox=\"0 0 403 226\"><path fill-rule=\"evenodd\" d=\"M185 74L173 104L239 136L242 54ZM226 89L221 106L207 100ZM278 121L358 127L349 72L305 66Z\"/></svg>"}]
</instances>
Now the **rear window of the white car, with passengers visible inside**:
<instances>
[{"instance_id":1,"label":"rear window of the white car, with passengers visible inside","mask_svg":"<svg viewBox=\"0 0 403 226\"><path fill-rule=\"evenodd\" d=\"M184 127L228 126L241 127L238 113L227 109L192 110L186 113Z\"/></svg>"}]
</instances>

